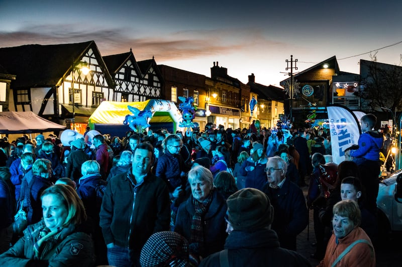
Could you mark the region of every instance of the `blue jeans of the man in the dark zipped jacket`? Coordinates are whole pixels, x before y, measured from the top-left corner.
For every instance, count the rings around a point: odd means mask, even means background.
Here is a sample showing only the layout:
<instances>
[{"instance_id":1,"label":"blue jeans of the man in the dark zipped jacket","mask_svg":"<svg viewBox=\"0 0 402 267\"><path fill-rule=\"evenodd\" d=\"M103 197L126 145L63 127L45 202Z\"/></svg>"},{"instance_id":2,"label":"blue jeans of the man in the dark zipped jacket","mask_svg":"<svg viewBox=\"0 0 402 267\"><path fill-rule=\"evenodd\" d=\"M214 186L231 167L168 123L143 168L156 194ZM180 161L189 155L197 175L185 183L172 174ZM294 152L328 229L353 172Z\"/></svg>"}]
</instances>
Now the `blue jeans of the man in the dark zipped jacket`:
<instances>
[{"instance_id":1,"label":"blue jeans of the man in the dark zipped jacket","mask_svg":"<svg viewBox=\"0 0 402 267\"><path fill-rule=\"evenodd\" d=\"M108 248L108 261L116 267L140 266L140 255L135 255L132 249L115 245Z\"/></svg>"}]
</instances>

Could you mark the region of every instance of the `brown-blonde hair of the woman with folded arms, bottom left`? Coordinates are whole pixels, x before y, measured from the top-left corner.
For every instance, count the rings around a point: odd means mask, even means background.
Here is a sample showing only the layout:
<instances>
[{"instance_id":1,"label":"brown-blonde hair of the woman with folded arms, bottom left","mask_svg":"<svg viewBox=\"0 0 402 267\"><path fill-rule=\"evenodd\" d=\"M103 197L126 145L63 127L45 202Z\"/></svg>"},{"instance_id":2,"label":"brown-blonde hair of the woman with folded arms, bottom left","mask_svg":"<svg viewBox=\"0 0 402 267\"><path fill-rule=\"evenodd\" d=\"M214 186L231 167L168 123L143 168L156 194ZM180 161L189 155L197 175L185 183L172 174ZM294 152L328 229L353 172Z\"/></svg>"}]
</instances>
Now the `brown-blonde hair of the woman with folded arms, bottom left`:
<instances>
[{"instance_id":1,"label":"brown-blonde hair of the woman with folded arms, bottom left","mask_svg":"<svg viewBox=\"0 0 402 267\"><path fill-rule=\"evenodd\" d=\"M61 184L51 186L43 191L41 200L47 195L55 195L59 197L65 205L68 214L63 226L68 226L70 224L78 225L86 220L84 204L72 187Z\"/></svg>"}]
</instances>

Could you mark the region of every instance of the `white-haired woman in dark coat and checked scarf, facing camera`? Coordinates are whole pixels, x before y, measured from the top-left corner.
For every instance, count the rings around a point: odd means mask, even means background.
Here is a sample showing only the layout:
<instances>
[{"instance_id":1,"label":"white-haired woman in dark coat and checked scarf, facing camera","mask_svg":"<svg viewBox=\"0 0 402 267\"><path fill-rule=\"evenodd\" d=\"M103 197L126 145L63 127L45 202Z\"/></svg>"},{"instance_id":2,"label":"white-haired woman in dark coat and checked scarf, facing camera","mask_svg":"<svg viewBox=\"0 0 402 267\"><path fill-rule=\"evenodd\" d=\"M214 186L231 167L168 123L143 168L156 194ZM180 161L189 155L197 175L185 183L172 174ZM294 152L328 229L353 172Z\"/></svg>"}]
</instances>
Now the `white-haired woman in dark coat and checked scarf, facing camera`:
<instances>
[{"instance_id":1,"label":"white-haired woman in dark coat and checked scarf, facing camera","mask_svg":"<svg viewBox=\"0 0 402 267\"><path fill-rule=\"evenodd\" d=\"M212 172L195 166L188 172L191 196L180 204L174 231L189 241L190 254L203 258L223 249L227 205L214 188Z\"/></svg>"}]
</instances>

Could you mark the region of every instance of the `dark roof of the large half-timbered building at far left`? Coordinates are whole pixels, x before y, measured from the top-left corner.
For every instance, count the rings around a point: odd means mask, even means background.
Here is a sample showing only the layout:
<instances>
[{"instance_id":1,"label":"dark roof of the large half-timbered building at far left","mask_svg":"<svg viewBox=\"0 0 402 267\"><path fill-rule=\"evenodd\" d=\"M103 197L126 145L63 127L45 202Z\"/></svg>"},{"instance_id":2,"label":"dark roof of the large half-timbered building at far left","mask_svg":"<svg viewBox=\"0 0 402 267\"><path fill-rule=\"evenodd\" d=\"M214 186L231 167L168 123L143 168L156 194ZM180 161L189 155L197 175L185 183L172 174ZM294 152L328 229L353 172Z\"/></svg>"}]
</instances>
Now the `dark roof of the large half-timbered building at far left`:
<instances>
[{"instance_id":1,"label":"dark roof of the large half-timbered building at far left","mask_svg":"<svg viewBox=\"0 0 402 267\"><path fill-rule=\"evenodd\" d=\"M14 87L58 86L61 78L71 71L72 63L81 59L91 46L94 52L99 54L94 41L75 44L30 44L4 47L0 48L0 64L10 74L17 75L17 79L13 81ZM103 67L102 57L100 59L98 63ZM112 82L107 71L105 76Z\"/></svg>"}]
</instances>

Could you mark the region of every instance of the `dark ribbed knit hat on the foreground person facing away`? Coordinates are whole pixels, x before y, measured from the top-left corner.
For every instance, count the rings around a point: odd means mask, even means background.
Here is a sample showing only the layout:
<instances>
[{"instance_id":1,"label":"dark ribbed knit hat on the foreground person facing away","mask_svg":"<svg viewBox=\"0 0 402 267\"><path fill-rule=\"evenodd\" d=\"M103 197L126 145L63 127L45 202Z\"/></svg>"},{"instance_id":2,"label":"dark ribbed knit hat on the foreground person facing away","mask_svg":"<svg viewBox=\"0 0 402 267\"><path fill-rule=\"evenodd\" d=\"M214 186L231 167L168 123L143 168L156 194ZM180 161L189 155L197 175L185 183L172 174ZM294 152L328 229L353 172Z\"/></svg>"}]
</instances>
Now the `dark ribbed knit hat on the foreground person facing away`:
<instances>
[{"instance_id":1,"label":"dark ribbed knit hat on the foreground person facing away","mask_svg":"<svg viewBox=\"0 0 402 267\"><path fill-rule=\"evenodd\" d=\"M273 221L273 207L267 195L258 189L244 188L228 200L229 222L234 230L262 229Z\"/></svg>"}]
</instances>

